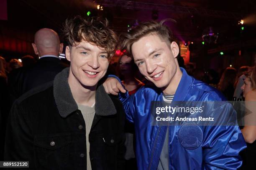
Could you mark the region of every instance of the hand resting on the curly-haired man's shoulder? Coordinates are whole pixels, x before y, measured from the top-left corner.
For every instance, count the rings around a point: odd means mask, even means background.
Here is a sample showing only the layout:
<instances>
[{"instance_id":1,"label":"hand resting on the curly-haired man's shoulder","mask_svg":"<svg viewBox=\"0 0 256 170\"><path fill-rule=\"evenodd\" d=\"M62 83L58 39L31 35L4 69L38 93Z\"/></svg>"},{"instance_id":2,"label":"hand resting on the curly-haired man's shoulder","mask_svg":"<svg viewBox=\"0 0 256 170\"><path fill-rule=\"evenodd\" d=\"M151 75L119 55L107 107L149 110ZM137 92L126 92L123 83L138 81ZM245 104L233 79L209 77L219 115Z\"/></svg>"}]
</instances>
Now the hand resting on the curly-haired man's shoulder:
<instances>
[{"instance_id":1,"label":"hand resting on the curly-haired man's shoulder","mask_svg":"<svg viewBox=\"0 0 256 170\"><path fill-rule=\"evenodd\" d=\"M126 92L120 82L114 77L107 78L107 80L103 83L103 86L105 88L105 91L111 95L118 95L118 92Z\"/></svg>"}]
</instances>

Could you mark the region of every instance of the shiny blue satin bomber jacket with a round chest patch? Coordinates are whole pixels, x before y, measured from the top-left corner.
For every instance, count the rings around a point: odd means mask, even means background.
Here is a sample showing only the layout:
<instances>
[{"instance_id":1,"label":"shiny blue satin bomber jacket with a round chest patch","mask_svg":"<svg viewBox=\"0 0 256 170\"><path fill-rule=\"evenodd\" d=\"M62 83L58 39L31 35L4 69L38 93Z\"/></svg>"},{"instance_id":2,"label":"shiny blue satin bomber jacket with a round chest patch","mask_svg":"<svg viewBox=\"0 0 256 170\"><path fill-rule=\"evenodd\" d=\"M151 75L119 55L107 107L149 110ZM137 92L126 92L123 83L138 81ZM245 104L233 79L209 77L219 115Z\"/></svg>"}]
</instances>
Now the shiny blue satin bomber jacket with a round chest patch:
<instances>
[{"instance_id":1,"label":"shiny blue satin bomber jacket with a round chest patch","mask_svg":"<svg viewBox=\"0 0 256 170\"><path fill-rule=\"evenodd\" d=\"M181 70L182 78L173 101L225 100L218 90L187 75L183 68ZM195 125L184 126L186 128L183 129L182 125L152 126L151 101L162 101L162 95L159 88L146 86L134 95L128 96L128 92L119 95L127 119L135 125L138 170L157 169L167 130L169 170L236 170L242 165L239 152L246 148L246 143L238 126ZM226 116L225 112L236 114L232 107L214 107L220 120ZM204 110L204 113L207 112ZM188 148L179 142L179 138L186 140L190 134L201 137L199 147Z\"/></svg>"}]
</instances>

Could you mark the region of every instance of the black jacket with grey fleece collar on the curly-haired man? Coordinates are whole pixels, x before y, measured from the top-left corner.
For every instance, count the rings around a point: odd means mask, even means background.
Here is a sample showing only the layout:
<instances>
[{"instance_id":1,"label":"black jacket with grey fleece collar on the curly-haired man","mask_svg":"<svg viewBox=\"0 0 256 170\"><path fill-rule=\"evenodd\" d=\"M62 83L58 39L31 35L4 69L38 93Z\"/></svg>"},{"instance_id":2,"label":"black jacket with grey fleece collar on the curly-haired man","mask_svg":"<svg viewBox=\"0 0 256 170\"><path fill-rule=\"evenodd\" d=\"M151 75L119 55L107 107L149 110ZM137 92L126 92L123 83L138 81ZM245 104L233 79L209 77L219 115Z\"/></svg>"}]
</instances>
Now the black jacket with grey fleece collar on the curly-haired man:
<instances>
[{"instance_id":1,"label":"black jacket with grey fleece collar on the curly-haired man","mask_svg":"<svg viewBox=\"0 0 256 170\"><path fill-rule=\"evenodd\" d=\"M72 97L69 68L54 82L37 87L15 101L10 111L5 160L29 161L30 169L86 170L85 123ZM122 170L123 105L96 90L95 117L89 134L92 170Z\"/></svg>"}]
</instances>

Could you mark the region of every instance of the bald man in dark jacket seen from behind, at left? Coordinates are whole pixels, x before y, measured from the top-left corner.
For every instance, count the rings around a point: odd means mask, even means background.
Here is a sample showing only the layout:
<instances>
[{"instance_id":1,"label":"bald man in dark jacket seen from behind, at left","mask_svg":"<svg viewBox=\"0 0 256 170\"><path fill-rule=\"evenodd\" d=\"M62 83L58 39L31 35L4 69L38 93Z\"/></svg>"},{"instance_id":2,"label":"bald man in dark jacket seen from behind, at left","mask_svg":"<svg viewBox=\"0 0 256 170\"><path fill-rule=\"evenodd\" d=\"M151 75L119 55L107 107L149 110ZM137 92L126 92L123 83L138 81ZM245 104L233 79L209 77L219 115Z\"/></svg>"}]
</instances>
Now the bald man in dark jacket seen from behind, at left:
<instances>
[{"instance_id":1,"label":"bald man in dark jacket seen from behind, at left","mask_svg":"<svg viewBox=\"0 0 256 170\"><path fill-rule=\"evenodd\" d=\"M67 67L58 57L63 50L63 44L60 43L59 35L54 30L49 28L38 30L32 46L35 54L40 58L38 62L15 70L8 77L13 101L28 90L54 80L55 75Z\"/></svg>"}]
</instances>

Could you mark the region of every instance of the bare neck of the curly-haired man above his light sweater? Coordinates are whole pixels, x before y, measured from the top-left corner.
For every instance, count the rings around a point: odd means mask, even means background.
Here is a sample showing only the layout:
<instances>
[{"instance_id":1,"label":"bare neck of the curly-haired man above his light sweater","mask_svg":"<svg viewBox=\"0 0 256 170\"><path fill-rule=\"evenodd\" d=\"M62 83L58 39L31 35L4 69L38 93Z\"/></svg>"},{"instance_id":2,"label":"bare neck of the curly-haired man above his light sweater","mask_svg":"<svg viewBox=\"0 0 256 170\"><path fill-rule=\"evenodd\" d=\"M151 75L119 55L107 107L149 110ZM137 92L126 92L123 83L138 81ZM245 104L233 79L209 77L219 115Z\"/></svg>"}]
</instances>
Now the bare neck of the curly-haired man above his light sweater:
<instances>
[{"instance_id":1,"label":"bare neck of the curly-haired man above his light sweater","mask_svg":"<svg viewBox=\"0 0 256 170\"><path fill-rule=\"evenodd\" d=\"M81 104L92 106L95 103L96 87L83 86L73 75L72 70L69 71L68 83L74 100Z\"/></svg>"}]
</instances>

